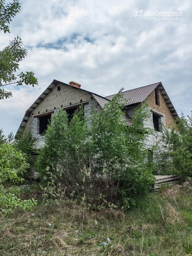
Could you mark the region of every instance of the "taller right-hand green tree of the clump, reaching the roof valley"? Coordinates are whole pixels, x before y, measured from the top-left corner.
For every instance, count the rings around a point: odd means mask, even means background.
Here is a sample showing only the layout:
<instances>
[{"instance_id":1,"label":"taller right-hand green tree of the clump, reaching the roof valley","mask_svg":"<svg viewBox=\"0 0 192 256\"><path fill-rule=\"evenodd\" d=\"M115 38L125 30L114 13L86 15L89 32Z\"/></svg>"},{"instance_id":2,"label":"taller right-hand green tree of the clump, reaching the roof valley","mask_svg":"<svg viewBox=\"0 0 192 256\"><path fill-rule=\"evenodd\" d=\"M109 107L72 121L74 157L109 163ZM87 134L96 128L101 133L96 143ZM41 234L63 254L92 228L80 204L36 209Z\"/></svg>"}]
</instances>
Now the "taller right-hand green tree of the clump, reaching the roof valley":
<instances>
[{"instance_id":1,"label":"taller right-hand green tree of the clump, reaching the roof valley","mask_svg":"<svg viewBox=\"0 0 192 256\"><path fill-rule=\"evenodd\" d=\"M150 114L147 105L135 109L132 122L127 125L122 102L120 91L93 117L93 169L103 181L108 181L113 192L118 191L124 206L129 207L135 203L136 196L149 191L154 181L153 166L147 162L148 151L144 143L153 131L144 127ZM113 193L108 200L113 200L115 195Z\"/></svg>"}]
</instances>

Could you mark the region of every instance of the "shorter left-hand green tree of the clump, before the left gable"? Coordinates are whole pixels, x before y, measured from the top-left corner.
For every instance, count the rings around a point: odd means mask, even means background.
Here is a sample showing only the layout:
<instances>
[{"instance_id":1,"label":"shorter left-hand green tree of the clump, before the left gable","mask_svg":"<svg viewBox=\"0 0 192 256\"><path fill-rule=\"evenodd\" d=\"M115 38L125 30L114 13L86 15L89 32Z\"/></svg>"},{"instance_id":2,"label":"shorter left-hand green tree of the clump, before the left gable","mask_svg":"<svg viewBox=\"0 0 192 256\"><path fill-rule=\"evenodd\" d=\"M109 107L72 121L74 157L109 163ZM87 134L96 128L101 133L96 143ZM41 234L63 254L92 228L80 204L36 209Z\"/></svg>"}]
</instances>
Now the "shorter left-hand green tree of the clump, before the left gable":
<instances>
[{"instance_id":1,"label":"shorter left-hand green tree of the clump, before the left gable","mask_svg":"<svg viewBox=\"0 0 192 256\"><path fill-rule=\"evenodd\" d=\"M65 191L81 196L87 188L84 178L89 163L89 136L83 108L79 108L68 125L63 110L53 114L45 133L35 170L47 184L47 191L59 197ZM83 185L85 184L85 185Z\"/></svg>"}]
</instances>

